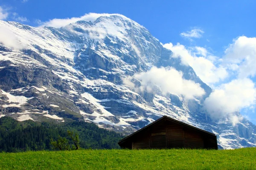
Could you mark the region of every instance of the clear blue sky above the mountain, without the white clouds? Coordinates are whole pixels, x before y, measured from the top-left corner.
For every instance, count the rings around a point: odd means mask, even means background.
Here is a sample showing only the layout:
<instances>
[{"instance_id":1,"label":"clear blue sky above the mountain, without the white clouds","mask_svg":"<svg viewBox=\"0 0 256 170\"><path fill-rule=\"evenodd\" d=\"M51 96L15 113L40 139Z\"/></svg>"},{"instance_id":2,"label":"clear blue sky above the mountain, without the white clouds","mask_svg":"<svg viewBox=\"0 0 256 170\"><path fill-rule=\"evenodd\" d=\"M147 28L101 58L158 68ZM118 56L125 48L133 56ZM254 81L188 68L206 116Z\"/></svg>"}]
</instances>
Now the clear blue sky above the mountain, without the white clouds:
<instances>
[{"instance_id":1,"label":"clear blue sky above the mountain, without the white clouds","mask_svg":"<svg viewBox=\"0 0 256 170\"><path fill-rule=\"evenodd\" d=\"M180 33L192 27L204 30L196 42L219 54L238 36L256 37L255 0L0 0L36 26L35 20L79 17L89 12L119 13L145 26L160 42L189 45ZM209 40L209 42L207 41Z\"/></svg>"}]
</instances>

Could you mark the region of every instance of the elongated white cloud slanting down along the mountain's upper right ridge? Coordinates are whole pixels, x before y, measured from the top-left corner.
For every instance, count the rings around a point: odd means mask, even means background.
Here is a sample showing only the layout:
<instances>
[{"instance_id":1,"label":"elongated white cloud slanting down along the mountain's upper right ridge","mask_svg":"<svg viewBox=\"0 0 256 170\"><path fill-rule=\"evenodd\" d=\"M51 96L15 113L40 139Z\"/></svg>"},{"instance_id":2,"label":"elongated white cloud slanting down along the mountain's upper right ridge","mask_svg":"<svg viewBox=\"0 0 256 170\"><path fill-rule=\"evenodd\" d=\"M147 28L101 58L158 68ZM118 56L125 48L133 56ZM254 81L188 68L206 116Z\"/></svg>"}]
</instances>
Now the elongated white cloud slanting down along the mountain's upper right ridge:
<instances>
[{"instance_id":1,"label":"elongated white cloud slanting down along the mountain's upper right ridge","mask_svg":"<svg viewBox=\"0 0 256 170\"><path fill-rule=\"evenodd\" d=\"M186 49L184 45L179 43L177 45L168 43L163 46L172 50L172 57L180 57L184 65L190 65L200 79L208 85L219 82L228 76L224 67L214 65L216 57L210 55L203 47Z\"/></svg>"}]
</instances>

